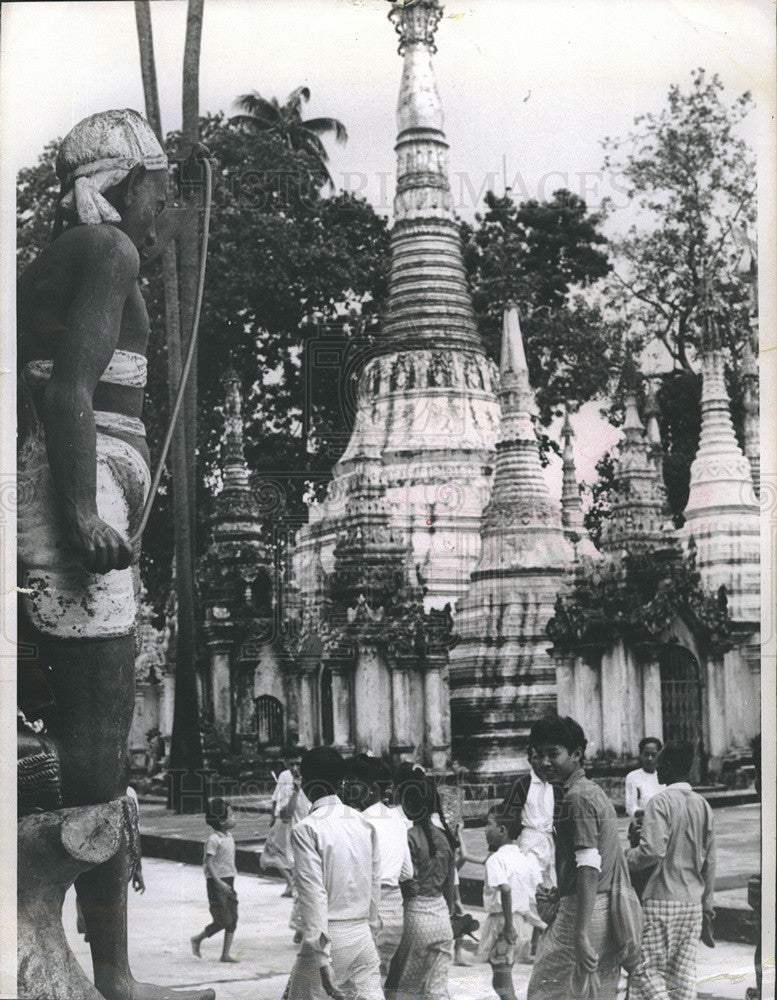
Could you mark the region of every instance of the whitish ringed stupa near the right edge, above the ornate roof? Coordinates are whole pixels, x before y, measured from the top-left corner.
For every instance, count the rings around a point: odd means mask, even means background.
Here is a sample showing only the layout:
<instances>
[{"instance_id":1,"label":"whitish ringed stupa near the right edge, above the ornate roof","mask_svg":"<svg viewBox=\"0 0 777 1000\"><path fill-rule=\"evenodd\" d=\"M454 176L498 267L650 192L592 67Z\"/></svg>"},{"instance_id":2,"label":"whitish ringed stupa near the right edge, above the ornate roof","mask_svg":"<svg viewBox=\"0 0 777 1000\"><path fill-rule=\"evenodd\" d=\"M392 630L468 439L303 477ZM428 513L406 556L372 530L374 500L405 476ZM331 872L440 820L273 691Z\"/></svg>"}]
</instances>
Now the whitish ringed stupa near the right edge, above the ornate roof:
<instances>
[{"instance_id":1,"label":"whitish ringed stupa near the right edge, above the ornate roof","mask_svg":"<svg viewBox=\"0 0 777 1000\"><path fill-rule=\"evenodd\" d=\"M683 537L696 544L703 586L712 592L725 586L734 622L758 622L759 507L752 469L731 422L725 355L711 313L701 367L701 433L691 465Z\"/></svg>"}]
</instances>

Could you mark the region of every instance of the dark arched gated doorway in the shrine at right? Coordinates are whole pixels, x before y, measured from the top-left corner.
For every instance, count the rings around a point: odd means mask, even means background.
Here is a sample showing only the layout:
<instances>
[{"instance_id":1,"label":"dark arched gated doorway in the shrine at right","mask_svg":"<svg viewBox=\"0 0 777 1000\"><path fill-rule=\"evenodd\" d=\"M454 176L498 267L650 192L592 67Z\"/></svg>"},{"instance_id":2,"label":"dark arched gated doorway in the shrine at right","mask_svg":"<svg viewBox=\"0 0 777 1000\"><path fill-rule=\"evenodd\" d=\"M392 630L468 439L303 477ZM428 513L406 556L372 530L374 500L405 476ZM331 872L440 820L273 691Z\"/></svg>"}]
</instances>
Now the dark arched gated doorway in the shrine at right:
<instances>
[{"instance_id":1,"label":"dark arched gated doorway in the shrine at right","mask_svg":"<svg viewBox=\"0 0 777 1000\"><path fill-rule=\"evenodd\" d=\"M691 783L698 785L707 780L699 661L683 646L667 646L659 666L664 741L687 740L696 747Z\"/></svg>"}]
</instances>

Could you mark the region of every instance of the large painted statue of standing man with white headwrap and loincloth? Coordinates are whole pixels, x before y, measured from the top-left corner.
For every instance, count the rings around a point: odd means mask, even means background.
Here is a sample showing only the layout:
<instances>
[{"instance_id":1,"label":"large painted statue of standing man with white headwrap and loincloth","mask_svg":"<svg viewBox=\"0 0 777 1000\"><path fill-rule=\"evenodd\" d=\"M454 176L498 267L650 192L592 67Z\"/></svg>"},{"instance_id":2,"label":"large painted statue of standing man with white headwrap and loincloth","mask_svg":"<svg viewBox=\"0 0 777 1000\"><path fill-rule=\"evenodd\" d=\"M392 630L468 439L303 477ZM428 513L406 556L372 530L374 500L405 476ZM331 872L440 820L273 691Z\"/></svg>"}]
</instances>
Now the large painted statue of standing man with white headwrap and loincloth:
<instances>
[{"instance_id":1,"label":"large painted statue of standing man with white headwrap and loincloth","mask_svg":"<svg viewBox=\"0 0 777 1000\"><path fill-rule=\"evenodd\" d=\"M163 248L163 231L171 235L167 158L141 115L115 110L79 122L62 142L56 169L62 188L53 239L18 285L19 642L20 650L32 652L19 659L19 697L32 718L25 698L43 684L50 689L47 724L68 815L61 823L52 823L50 811L26 816L19 857L45 858L39 845L53 845L55 873L57 852L67 852L94 984L105 1000L207 1000L212 990L173 992L133 978L127 958L132 837L124 823L114 837L114 814L126 812L119 800L134 709L132 564L139 553L128 539L150 480L141 420L149 322L138 282L144 264ZM25 801L34 800L34 788L27 791ZM97 832L90 832L90 822ZM66 867L63 861L62 871ZM44 893L45 868L41 861L20 870L20 882L33 885L20 885L20 996L96 997L85 977L74 982L77 963L75 971L53 959L48 972L41 966L46 956L34 941L41 929L30 914L44 911L29 900L22 907L21 899L23 892ZM60 895L70 884L59 879L54 910L61 910ZM35 976L25 971L31 963L38 966Z\"/></svg>"}]
</instances>

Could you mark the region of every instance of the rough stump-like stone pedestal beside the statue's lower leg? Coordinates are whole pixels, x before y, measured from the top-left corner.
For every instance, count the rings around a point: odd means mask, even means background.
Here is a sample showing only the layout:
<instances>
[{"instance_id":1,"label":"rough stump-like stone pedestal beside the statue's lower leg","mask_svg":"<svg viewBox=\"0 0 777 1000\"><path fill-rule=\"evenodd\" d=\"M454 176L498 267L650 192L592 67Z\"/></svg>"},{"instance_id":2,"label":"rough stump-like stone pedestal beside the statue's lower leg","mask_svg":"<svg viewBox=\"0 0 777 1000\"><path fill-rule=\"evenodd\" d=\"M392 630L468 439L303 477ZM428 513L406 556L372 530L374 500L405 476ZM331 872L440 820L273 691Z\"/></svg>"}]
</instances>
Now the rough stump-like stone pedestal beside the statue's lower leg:
<instances>
[{"instance_id":1,"label":"rough stump-like stone pedestal beside the statue's lower leg","mask_svg":"<svg viewBox=\"0 0 777 1000\"><path fill-rule=\"evenodd\" d=\"M18 825L17 940L20 997L103 1000L65 939L62 904L83 872L113 857L122 800L25 816Z\"/></svg>"}]
</instances>

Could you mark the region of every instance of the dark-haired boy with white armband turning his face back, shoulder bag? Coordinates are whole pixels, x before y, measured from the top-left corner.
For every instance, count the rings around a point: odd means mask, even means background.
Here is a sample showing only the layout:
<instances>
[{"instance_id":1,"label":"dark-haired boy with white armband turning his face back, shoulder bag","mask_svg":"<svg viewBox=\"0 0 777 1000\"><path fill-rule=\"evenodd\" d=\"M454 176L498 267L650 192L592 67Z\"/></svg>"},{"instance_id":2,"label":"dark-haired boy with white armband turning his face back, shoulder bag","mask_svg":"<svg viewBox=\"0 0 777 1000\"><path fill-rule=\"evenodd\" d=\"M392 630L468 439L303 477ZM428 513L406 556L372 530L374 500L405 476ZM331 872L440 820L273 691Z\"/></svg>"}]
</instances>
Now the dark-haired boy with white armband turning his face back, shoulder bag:
<instances>
[{"instance_id":1,"label":"dark-haired boy with white armband turning his face back, shoulder bag","mask_svg":"<svg viewBox=\"0 0 777 1000\"><path fill-rule=\"evenodd\" d=\"M556 819L558 912L540 941L527 1000L581 1000L592 985L598 1000L615 1000L620 962L610 893L623 864L615 809L585 776L588 741L574 719L540 719L532 739L545 778L564 797Z\"/></svg>"}]
</instances>

